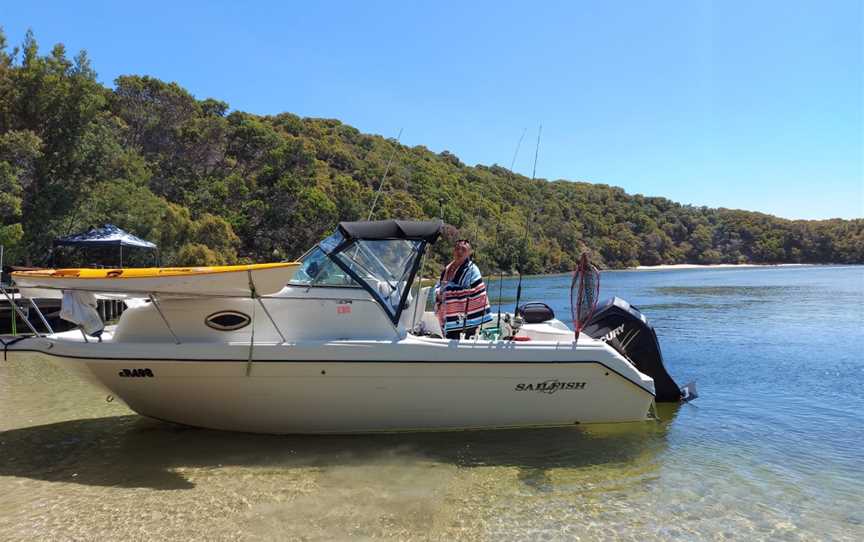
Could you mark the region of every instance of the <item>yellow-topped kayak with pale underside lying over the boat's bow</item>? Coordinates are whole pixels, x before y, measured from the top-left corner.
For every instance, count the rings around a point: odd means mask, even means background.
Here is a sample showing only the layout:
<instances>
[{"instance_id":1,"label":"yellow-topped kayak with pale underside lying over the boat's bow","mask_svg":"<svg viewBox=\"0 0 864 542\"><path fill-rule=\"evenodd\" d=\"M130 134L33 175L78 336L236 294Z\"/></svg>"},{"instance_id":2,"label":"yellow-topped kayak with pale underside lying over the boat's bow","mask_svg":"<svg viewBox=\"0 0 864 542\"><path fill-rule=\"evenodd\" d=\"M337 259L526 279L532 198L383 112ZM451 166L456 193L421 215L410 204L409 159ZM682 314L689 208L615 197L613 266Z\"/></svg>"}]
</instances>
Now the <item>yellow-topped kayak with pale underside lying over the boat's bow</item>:
<instances>
[{"instance_id":1,"label":"yellow-topped kayak with pale underside lying over the boat's bow","mask_svg":"<svg viewBox=\"0 0 864 542\"><path fill-rule=\"evenodd\" d=\"M299 268L299 262L282 262L214 267L40 269L12 273L12 280L21 289L248 296L250 281L259 295L274 294L291 280Z\"/></svg>"}]
</instances>

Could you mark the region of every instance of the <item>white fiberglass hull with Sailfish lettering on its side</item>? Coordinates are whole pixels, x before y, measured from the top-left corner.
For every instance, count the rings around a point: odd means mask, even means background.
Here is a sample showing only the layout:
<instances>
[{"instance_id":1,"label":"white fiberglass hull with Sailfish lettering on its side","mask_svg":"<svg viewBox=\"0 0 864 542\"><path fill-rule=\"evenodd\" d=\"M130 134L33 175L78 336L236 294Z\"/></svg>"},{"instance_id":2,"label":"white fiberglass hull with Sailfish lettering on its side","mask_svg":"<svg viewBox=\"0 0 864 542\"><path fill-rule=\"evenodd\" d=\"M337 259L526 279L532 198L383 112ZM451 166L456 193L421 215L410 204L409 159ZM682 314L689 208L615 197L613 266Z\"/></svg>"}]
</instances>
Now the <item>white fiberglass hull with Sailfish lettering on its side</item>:
<instances>
[{"instance_id":1,"label":"white fiberglass hull with Sailfish lettering on its side","mask_svg":"<svg viewBox=\"0 0 864 542\"><path fill-rule=\"evenodd\" d=\"M403 357L428 356L435 361L375 360L391 357L392 346L387 345L394 345L378 341L319 343L309 348L256 345L251 364L228 359L248 353L248 345L229 347L228 352L223 348L219 356L197 361L137 355L134 360L88 359L63 355L59 350L74 352L62 347L43 353L103 385L142 415L260 433L642 421L654 399L650 378L633 374L626 361L607 356L609 352L593 342L585 348L535 343L531 349L512 343L478 342L473 347L441 340L399 343ZM108 353L110 345L105 346ZM154 346L148 349L153 352ZM165 355L169 348L160 345L153 353L166 349L161 352ZM91 343L88 349L96 351L98 345ZM276 359L280 352L283 358L295 359ZM317 361L309 360L313 352L318 353ZM127 352L136 353L143 352ZM458 361L469 353L472 361ZM325 357L330 359L323 361Z\"/></svg>"}]
</instances>

